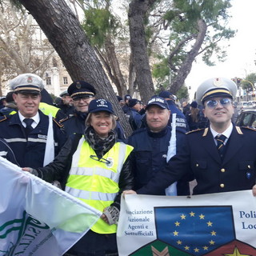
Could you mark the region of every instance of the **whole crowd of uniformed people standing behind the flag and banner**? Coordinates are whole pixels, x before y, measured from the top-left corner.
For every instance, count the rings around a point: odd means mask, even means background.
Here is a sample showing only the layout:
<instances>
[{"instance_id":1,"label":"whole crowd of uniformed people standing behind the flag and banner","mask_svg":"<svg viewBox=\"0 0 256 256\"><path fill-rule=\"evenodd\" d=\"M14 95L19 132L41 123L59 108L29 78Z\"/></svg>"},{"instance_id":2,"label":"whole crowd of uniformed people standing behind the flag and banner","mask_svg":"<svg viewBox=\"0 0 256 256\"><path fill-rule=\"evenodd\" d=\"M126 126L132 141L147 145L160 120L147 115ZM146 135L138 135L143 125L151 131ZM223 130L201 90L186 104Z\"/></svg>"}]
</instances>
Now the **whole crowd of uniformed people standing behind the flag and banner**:
<instances>
[{"instance_id":1,"label":"whole crowd of uniformed people standing behind the flag and banner","mask_svg":"<svg viewBox=\"0 0 256 256\"><path fill-rule=\"evenodd\" d=\"M129 138L112 103L97 98L88 82L74 81L56 106L43 100L42 78L35 74L18 75L10 90L1 102L0 155L102 211L69 255L118 255L122 194L256 195L256 132L231 122L237 86L229 79L203 82L182 110L168 91L146 104L117 96L134 130Z\"/></svg>"}]
</instances>

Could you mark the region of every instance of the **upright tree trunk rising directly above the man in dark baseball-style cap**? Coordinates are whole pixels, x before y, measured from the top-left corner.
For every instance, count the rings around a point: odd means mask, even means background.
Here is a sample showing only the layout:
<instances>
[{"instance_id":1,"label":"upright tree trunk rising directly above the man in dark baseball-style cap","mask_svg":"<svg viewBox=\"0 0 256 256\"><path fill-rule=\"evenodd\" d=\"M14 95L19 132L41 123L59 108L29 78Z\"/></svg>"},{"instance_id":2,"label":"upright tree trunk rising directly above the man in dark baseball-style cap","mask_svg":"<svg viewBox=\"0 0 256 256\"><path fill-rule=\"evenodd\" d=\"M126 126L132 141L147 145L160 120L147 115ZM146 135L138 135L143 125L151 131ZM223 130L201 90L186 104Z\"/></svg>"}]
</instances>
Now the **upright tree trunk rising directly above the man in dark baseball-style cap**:
<instances>
[{"instance_id":1,"label":"upright tree trunk rising directly above the man in dark baseball-style cap","mask_svg":"<svg viewBox=\"0 0 256 256\"><path fill-rule=\"evenodd\" d=\"M142 102L147 102L154 95L144 27L146 12L153 3L154 0L133 0L129 5L130 48Z\"/></svg>"}]
</instances>

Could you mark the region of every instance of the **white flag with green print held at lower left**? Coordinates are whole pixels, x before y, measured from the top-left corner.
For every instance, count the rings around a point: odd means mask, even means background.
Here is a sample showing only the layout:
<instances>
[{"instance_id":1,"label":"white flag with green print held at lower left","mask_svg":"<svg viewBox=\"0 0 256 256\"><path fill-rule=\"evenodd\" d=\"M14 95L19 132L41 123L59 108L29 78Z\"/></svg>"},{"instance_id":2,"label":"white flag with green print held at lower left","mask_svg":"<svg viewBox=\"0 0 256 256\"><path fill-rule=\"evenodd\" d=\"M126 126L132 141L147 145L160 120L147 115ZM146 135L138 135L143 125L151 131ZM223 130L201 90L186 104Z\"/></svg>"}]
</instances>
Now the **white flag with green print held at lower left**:
<instances>
[{"instance_id":1,"label":"white flag with green print held at lower left","mask_svg":"<svg viewBox=\"0 0 256 256\"><path fill-rule=\"evenodd\" d=\"M59 256L101 212L0 157L0 256Z\"/></svg>"}]
</instances>

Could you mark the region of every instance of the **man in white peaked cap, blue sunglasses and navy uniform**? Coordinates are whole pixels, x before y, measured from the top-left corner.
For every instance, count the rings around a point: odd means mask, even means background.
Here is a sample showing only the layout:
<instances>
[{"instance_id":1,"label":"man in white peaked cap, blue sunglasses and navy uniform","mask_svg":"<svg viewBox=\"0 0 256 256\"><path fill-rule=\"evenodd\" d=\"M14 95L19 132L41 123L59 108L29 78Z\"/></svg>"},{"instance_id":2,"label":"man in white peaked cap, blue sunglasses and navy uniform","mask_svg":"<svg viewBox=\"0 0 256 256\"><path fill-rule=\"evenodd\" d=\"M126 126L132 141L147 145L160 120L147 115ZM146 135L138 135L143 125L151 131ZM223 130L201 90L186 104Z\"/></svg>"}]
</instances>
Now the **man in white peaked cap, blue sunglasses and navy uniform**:
<instances>
[{"instance_id":1,"label":"man in white peaked cap, blue sunglasses and navy uniform","mask_svg":"<svg viewBox=\"0 0 256 256\"><path fill-rule=\"evenodd\" d=\"M194 194L255 187L256 130L231 122L236 91L236 84L226 78L211 78L198 87L197 100L204 107L210 127L186 134L182 154L170 159L166 169L137 190L138 194L158 194L184 175L197 180Z\"/></svg>"}]
</instances>

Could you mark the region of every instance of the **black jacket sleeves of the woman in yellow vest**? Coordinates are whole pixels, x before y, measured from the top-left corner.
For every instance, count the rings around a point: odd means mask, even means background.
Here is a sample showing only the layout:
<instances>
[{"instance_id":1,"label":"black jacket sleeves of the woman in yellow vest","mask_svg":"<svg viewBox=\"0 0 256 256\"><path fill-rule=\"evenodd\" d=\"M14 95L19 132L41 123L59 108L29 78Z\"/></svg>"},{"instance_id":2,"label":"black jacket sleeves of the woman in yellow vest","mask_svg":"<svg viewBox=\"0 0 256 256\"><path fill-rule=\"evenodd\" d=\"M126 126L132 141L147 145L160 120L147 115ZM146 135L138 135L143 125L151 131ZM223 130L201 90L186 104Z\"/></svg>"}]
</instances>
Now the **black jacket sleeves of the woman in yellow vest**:
<instances>
[{"instance_id":1,"label":"black jacket sleeves of the woman in yellow vest","mask_svg":"<svg viewBox=\"0 0 256 256\"><path fill-rule=\"evenodd\" d=\"M38 177L42 178L46 182L54 182L54 180L58 180L62 184L62 188L65 188L67 178L69 176L69 171L72 163L72 157L77 150L78 142L82 134L74 134L71 135L67 140L65 145L62 147L62 150L58 154L56 158L54 158L54 162L51 162L49 165L37 168ZM122 166L122 171L119 177L119 193L117 197L114 199L114 203L112 205L120 208L120 199L123 190L131 190L134 188L134 177L130 170L130 157L126 159L126 162Z\"/></svg>"}]
</instances>

